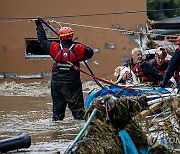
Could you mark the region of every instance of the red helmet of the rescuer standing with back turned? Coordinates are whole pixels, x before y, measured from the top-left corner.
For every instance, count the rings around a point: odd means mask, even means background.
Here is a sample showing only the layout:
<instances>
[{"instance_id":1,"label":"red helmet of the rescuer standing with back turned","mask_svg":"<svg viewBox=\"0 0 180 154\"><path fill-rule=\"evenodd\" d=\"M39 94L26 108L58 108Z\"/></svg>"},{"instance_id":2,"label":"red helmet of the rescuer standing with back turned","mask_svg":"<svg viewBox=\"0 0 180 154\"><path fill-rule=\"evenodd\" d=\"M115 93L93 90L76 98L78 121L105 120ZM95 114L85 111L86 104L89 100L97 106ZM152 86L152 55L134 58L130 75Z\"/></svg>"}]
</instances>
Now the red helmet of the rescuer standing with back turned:
<instances>
[{"instance_id":1,"label":"red helmet of the rescuer standing with back turned","mask_svg":"<svg viewBox=\"0 0 180 154\"><path fill-rule=\"evenodd\" d=\"M73 33L70 27L62 27L58 32L62 40L71 40L73 38Z\"/></svg>"}]
</instances>

